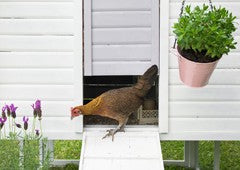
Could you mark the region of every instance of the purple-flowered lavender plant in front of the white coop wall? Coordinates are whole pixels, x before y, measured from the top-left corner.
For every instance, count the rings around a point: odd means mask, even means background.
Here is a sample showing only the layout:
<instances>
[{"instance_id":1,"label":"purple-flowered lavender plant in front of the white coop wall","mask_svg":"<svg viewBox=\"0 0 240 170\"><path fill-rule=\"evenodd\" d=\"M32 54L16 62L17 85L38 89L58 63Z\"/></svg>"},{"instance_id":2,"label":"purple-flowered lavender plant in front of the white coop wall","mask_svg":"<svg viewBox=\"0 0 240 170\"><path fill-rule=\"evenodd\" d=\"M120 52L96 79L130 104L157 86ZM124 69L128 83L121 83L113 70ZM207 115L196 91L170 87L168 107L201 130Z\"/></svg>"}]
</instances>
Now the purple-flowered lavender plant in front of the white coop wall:
<instances>
[{"instance_id":1,"label":"purple-flowered lavender plant in front of the white coop wall","mask_svg":"<svg viewBox=\"0 0 240 170\"><path fill-rule=\"evenodd\" d=\"M48 169L51 165L47 139L42 137L41 101L37 100L31 106L33 108L31 131L29 117L23 116L22 123L16 121L18 107L11 104L2 108L0 117L0 169ZM43 153L39 152L39 147L42 147ZM40 159L40 155L42 159Z\"/></svg>"}]
</instances>

